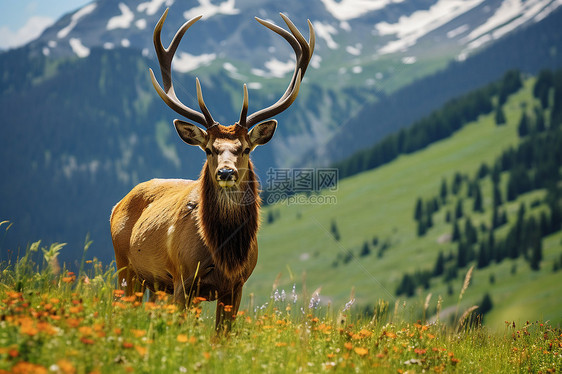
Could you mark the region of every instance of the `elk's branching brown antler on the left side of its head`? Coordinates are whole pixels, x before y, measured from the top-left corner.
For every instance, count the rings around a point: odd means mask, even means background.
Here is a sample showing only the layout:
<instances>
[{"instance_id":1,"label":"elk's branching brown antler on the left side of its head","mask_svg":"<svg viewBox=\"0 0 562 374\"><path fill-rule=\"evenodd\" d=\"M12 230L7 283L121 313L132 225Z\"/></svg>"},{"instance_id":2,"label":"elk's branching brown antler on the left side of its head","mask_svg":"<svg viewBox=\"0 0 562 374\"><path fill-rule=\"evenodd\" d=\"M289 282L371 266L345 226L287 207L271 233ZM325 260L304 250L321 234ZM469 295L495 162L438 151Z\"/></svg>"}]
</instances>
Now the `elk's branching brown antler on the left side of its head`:
<instances>
[{"instance_id":1,"label":"elk's branching brown antler on the left side of its head","mask_svg":"<svg viewBox=\"0 0 562 374\"><path fill-rule=\"evenodd\" d=\"M162 73L162 81L164 82L164 89L160 87L160 84L156 80L156 77L154 76L154 72L152 71L152 69L149 69L150 76L152 78L152 84L154 85L156 92L158 92L158 95L160 95L162 100L164 100L164 102L168 104L168 106L172 108L175 112L181 114L186 118L189 118L192 121L195 121L205 126L205 128L209 128L211 126L214 126L216 122L213 120L213 117L211 116L211 113L207 109L207 106L205 105L205 101L203 100L203 94L201 91L201 84L199 83L199 79L195 78L195 83L197 87L197 101L199 103L199 108L201 108L201 112L203 113L193 110L187 107L186 105L184 105L181 101L179 101L174 91L174 85L172 83L172 59L174 58L176 49L178 48L181 38L183 37L185 32L195 22L201 19L201 16L192 18L191 20L184 23L183 26L180 27L180 29L174 36L174 39L172 39L170 46L168 48L164 48L164 46L162 45L160 33L162 31L162 26L164 25L164 21L166 20L166 17L168 15L168 10L169 9L166 9L166 11L162 15L162 17L160 17L160 20L156 24L156 27L154 28L154 49L156 50L156 55L158 56L158 62L160 63L160 71Z\"/></svg>"}]
</instances>

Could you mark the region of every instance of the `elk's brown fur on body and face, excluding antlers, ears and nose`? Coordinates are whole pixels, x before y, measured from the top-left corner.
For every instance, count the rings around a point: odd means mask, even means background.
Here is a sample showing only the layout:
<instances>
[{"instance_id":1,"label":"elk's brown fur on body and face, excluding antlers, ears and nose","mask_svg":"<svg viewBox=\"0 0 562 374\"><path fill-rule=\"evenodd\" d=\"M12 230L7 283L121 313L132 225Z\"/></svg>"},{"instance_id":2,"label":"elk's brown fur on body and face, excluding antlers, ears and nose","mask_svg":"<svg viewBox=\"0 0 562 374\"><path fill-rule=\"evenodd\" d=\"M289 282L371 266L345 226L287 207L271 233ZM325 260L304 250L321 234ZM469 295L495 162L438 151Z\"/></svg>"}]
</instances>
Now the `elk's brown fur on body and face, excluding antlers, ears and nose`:
<instances>
[{"instance_id":1,"label":"elk's brown fur on body and face, excluding antlers, ears and nose","mask_svg":"<svg viewBox=\"0 0 562 374\"><path fill-rule=\"evenodd\" d=\"M114 208L111 235L119 283L128 295L148 287L174 295L182 305L191 297L218 299L217 328L236 315L242 286L258 256L260 198L249 156L246 129L215 126L196 181L153 179L137 185ZM222 188L216 170L236 168L238 180ZM232 309L224 305L232 305Z\"/></svg>"}]
</instances>

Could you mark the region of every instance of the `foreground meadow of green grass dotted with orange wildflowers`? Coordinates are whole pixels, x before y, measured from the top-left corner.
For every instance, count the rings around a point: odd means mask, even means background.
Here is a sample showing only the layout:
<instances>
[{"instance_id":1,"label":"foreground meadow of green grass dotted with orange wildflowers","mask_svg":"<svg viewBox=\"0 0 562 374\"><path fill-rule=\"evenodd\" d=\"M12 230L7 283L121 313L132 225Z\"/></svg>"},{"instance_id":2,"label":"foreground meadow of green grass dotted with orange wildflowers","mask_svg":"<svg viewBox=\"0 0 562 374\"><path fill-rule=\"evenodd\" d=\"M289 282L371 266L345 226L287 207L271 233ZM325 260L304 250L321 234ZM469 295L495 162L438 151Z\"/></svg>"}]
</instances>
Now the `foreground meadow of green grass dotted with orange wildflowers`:
<instances>
[{"instance_id":1,"label":"foreground meadow of green grass dotted with orange wildflowers","mask_svg":"<svg viewBox=\"0 0 562 374\"><path fill-rule=\"evenodd\" d=\"M295 290L242 310L226 337L211 303L183 309L157 293L124 296L113 267L60 270L53 254L0 269L0 373L557 372L562 331L539 322L501 332L410 320L379 303L372 318ZM28 249L39 253L39 244ZM86 256L87 258L87 256ZM39 261L41 262L42 259ZM143 301L144 299L144 301ZM204 307L202 307L205 304Z\"/></svg>"}]
</instances>

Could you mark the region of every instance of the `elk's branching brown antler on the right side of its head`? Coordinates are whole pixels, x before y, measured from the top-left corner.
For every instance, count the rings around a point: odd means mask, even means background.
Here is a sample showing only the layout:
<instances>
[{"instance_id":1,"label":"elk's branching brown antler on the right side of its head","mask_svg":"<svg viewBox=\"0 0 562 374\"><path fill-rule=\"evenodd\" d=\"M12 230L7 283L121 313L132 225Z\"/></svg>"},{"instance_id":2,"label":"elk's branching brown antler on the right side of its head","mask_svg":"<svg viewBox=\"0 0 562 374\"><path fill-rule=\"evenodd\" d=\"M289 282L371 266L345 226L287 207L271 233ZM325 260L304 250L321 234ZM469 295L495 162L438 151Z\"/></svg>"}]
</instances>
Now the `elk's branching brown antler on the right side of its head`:
<instances>
[{"instance_id":1,"label":"elk's branching brown antler on the right side of its head","mask_svg":"<svg viewBox=\"0 0 562 374\"><path fill-rule=\"evenodd\" d=\"M307 42L304 36L302 36L302 34L296 28L296 26L291 22L289 17L287 17L283 13L280 13L280 15L291 31L290 33L287 30L276 26L271 22L259 19L258 17L256 17L256 20L268 29L281 35L285 40L287 40L287 42L289 42L291 47L293 47L293 50L295 51L297 57L295 71L293 73L293 77L291 78L291 82L289 83L289 87L287 87L287 90L285 91L283 96L281 96L281 98L277 100L275 104L261 109L248 117L246 116L248 113L248 88L246 87L246 85L244 85L244 102L242 105L242 112L240 113L240 121L238 122L238 124L248 129L258 122L281 113L282 111L287 109L293 103L293 101L295 101L299 93L301 79L306 72L306 68L308 67L308 63L310 62L312 53L314 52L316 37L314 35L314 28L312 27L312 23L310 22L310 20L308 20L310 38Z\"/></svg>"}]
</instances>

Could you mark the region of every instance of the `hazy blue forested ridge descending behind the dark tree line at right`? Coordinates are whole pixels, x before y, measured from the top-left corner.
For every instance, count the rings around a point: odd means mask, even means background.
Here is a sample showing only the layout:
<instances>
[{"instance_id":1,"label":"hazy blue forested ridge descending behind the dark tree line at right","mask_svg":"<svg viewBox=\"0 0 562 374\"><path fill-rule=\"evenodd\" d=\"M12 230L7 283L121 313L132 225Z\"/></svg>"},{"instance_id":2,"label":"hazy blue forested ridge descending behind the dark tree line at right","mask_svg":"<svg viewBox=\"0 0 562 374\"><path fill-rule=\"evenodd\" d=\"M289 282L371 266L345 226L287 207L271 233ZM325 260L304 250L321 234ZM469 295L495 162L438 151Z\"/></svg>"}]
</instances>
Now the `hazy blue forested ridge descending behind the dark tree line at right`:
<instances>
[{"instance_id":1,"label":"hazy blue forested ridge descending behind the dark tree line at right","mask_svg":"<svg viewBox=\"0 0 562 374\"><path fill-rule=\"evenodd\" d=\"M365 105L333 133L327 144L312 151L316 157L311 155L311 164L338 161L371 146L439 108L449 98L497 80L509 69L536 74L542 68L562 66L561 23L559 9L541 23L508 35L465 61L451 63L443 71Z\"/></svg>"}]
</instances>

